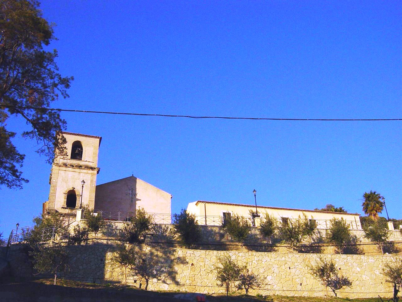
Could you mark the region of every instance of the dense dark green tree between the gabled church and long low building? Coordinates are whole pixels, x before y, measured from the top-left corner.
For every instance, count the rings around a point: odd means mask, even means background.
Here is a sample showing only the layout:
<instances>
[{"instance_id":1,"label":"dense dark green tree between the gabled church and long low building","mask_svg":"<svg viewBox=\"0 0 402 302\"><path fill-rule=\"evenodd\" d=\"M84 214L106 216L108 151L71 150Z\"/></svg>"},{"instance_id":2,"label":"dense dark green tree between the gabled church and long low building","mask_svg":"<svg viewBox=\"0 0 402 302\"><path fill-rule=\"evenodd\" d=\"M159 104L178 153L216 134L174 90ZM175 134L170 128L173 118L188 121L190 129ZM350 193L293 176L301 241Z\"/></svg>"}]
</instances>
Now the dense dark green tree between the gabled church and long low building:
<instances>
[{"instance_id":1,"label":"dense dark green tree between the gabled church and long low building","mask_svg":"<svg viewBox=\"0 0 402 302\"><path fill-rule=\"evenodd\" d=\"M201 230L197 219L185 209L182 209L180 214L174 216L173 224L178 239L185 246L190 247L201 240Z\"/></svg>"}]
</instances>

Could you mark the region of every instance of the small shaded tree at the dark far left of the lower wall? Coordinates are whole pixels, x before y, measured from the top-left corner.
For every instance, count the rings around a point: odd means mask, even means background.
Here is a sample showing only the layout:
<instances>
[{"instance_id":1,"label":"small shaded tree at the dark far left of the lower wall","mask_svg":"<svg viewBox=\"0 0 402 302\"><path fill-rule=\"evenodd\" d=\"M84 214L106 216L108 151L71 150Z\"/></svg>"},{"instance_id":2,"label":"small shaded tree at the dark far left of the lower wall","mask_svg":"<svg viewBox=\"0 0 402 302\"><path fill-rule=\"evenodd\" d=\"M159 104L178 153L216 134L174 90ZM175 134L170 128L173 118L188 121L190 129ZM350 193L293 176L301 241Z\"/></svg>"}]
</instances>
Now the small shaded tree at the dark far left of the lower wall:
<instances>
[{"instance_id":1,"label":"small shaded tree at the dark far left of the lower wall","mask_svg":"<svg viewBox=\"0 0 402 302\"><path fill-rule=\"evenodd\" d=\"M68 269L68 251L62 245L40 245L36 250L30 252L33 259L33 268L39 273L54 274L54 285L58 272Z\"/></svg>"}]
</instances>

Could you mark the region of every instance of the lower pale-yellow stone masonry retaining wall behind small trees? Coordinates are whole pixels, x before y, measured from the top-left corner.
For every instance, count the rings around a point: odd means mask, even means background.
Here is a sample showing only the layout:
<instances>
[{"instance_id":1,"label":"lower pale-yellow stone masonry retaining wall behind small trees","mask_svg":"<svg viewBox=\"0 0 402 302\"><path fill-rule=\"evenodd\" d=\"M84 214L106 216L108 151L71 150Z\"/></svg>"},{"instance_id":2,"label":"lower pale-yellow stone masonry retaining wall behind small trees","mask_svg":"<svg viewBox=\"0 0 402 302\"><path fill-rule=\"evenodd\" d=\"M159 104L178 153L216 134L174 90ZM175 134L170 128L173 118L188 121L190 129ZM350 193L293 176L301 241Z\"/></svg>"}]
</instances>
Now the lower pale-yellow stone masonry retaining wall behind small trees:
<instances>
[{"instance_id":1,"label":"lower pale-yellow stone masonry retaining wall behind small trees","mask_svg":"<svg viewBox=\"0 0 402 302\"><path fill-rule=\"evenodd\" d=\"M18 251L10 250L14 255ZM125 283L125 269L113 262L116 246L92 244L70 246L70 271L64 274L66 279L93 283ZM249 294L285 295L285 296L333 296L311 275L309 267L322 259L332 259L339 273L351 281L350 288L338 290L339 297L367 298L390 297L392 285L385 281L381 271L386 263L401 261L401 256L365 256L341 254L300 254L252 251L212 251L190 250L183 248L153 248L144 246L143 256L151 255L155 271L161 277L152 279L150 290L181 290L201 293L225 292L215 279L214 266L220 256L228 255L239 265L248 269L263 281L261 289L250 290ZM13 256L13 269L28 271L19 266ZM19 267L17 269L17 267ZM127 284L144 288L145 283L138 276L127 272Z\"/></svg>"}]
</instances>

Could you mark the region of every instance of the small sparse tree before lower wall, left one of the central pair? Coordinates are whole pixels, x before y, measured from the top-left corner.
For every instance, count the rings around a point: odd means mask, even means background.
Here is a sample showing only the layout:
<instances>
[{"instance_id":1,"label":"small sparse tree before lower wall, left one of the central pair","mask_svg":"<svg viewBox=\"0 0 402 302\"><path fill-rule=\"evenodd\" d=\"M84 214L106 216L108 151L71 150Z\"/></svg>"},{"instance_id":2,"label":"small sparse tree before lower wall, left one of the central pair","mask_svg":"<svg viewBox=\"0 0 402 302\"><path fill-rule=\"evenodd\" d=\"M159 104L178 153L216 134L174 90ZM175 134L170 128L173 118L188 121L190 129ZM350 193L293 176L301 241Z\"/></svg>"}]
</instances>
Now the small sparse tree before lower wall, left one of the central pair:
<instances>
[{"instance_id":1,"label":"small sparse tree before lower wall, left one of the central pair","mask_svg":"<svg viewBox=\"0 0 402 302\"><path fill-rule=\"evenodd\" d=\"M219 286L225 286L226 296L229 295L229 288L232 283L238 280L238 277L245 267L239 266L230 256L222 256L218 258L218 265L214 267L216 279Z\"/></svg>"}]
</instances>

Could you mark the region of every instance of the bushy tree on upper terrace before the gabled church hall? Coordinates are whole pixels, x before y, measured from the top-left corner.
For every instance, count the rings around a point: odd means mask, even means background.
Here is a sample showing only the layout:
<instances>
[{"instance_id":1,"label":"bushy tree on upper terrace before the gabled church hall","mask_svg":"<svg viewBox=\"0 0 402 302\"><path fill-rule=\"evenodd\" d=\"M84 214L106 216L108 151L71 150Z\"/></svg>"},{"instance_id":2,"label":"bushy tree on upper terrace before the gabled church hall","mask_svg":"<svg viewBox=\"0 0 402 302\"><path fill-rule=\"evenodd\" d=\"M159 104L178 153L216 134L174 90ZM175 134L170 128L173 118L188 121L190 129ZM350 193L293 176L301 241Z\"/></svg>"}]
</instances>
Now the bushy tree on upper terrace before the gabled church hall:
<instances>
[{"instance_id":1,"label":"bushy tree on upper terrace before the gabled church hall","mask_svg":"<svg viewBox=\"0 0 402 302\"><path fill-rule=\"evenodd\" d=\"M129 223L125 223L121 230L121 236L128 243L141 243L146 239L152 225L152 216L142 209L138 208L135 217L130 219Z\"/></svg>"}]
</instances>

